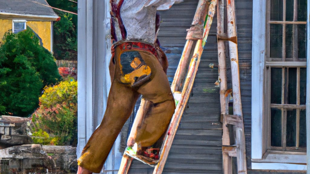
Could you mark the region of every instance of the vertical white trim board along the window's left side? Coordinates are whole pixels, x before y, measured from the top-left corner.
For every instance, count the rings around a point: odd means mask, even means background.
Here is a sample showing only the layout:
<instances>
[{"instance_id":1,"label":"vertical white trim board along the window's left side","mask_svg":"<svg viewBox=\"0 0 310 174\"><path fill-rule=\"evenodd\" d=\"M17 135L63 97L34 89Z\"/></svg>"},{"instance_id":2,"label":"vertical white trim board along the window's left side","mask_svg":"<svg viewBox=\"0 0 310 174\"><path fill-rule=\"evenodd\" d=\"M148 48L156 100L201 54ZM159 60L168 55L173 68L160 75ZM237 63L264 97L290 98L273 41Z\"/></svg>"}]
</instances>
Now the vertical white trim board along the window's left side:
<instances>
[{"instance_id":1,"label":"vertical white trim board along the window's left side","mask_svg":"<svg viewBox=\"0 0 310 174\"><path fill-rule=\"evenodd\" d=\"M266 1L253 0L252 34L252 132L251 158L262 159L263 147L263 76L265 66ZM255 107L254 107L255 106Z\"/></svg>"}]
</instances>

